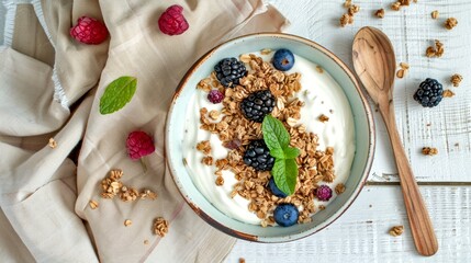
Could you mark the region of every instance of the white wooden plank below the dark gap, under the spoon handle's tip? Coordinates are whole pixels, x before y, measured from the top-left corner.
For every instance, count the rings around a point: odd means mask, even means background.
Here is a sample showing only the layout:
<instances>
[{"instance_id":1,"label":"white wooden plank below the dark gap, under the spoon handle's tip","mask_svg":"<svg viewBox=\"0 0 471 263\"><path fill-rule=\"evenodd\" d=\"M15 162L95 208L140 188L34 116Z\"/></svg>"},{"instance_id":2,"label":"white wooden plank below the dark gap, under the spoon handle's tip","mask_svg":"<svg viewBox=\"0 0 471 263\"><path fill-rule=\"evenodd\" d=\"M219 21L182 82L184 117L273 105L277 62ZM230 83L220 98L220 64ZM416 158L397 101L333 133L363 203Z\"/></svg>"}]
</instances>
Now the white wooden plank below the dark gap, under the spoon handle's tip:
<instances>
[{"instance_id":1,"label":"white wooden plank below the dark gap, under the spoon handle's tip","mask_svg":"<svg viewBox=\"0 0 471 263\"><path fill-rule=\"evenodd\" d=\"M471 262L471 186L422 186L439 250L419 255L407 225L399 186L367 186L333 225L305 239L282 244L237 241L227 263L238 262ZM392 237L391 227L404 226Z\"/></svg>"}]
</instances>

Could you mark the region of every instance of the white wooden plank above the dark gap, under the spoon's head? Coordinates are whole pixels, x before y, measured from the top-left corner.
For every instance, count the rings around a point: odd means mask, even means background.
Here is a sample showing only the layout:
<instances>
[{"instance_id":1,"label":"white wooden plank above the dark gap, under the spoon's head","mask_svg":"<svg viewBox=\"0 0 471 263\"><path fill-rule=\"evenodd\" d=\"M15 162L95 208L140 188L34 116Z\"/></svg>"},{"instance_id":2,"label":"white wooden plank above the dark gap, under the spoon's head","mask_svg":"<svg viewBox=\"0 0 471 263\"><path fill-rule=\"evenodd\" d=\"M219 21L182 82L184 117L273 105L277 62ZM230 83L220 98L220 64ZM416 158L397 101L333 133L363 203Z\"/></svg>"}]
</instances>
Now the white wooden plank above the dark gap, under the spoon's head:
<instances>
[{"instance_id":1,"label":"white wooden plank above the dark gap, under the spoon's head","mask_svg":"<svg viewBox=\"0 0 471 263\"><path fill-rule=\"evenodd\" d=\"M352 1L360 5L352 25L339 26L339 18L346 12L341 0L335 1L284 1L269 0L290 21L288 33L298 34L318 42L334 52L351 67L351 43L356 32L366 25L385 32L395 48L397 62L408 62L408 75L395 82L396 122L408 160L417 181L422 182L470 182L467 171L471 170L471 1L418 1L401 11L390 9L391 1ZM385 9L384 19L377 19L373 12ZM439 19L433 20L433 10L439 11ZM452 31L442 24L447 18L458 19ZM445 44L441 58L427 58L425 49L434 39ZM464 77L459 88L451 88L449 78L453 73ZM423 108L412 99L420 81L431 77L439 80L456 95L445 99L435 108ZM370 181L396 182L397 172L392 161L391 146L380 118L377 119L377 155ZM438 156L420 153L424 146L438 148Z\"/></svg>"}]
</instances>

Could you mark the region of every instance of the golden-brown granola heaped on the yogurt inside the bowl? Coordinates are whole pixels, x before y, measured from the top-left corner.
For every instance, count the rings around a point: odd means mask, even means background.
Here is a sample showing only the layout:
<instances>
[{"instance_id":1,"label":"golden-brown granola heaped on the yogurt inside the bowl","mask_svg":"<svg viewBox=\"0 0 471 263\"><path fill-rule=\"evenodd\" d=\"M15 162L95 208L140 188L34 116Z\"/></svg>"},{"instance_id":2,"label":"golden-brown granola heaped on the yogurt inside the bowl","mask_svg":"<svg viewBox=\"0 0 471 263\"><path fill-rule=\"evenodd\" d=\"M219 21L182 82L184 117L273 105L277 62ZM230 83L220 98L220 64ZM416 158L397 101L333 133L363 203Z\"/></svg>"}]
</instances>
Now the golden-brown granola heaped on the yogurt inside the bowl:
<instances>
[{"instance_id":1,"label":"golden-brown granola heaped on the yogurt inside the bowl","mask_svg":"<svg viewBox=\"0 0 471 263\"><path fill-rule=\"evenodd\" d=\"M198 89L210 92L217 89L224 93L221 121L214 122L206 108L200 110L200 128L217 135L223 146L229 149L227 157L206 161L211 157L209 141L200 141L197 149L204 153L202 162L215 165L215 184L224 183L223 170L229 170L238 181L231 193L231 197L239 195L248 201L248 209L261 219L261 226L274 225L272 213L278 204L291 203L300 210L299 222L311 221L311 215L315 211L314 195L318 183L333 182L334 149L325 151L317 149L317 135L307 133L301 118L301 107L304 103L294 95L301 91L301 75L284 73L276 70L269 62L256 55L242 55L240 60L249 66L249 72L240 79L240 84L233 89L224 89L214 76L214 72L198 84ZM262 138L261 124L245 118L239 110L240 102L249 94L259 90L270 90L276 98L276 107L271 115L280 119L291 136L290 146L300 149L296 158L299 176L293 195L281 198L274 196L267 187L270 179L269 171L256 171L243 161L245 147L250 140Z\"/></svg>"}]
</instances>

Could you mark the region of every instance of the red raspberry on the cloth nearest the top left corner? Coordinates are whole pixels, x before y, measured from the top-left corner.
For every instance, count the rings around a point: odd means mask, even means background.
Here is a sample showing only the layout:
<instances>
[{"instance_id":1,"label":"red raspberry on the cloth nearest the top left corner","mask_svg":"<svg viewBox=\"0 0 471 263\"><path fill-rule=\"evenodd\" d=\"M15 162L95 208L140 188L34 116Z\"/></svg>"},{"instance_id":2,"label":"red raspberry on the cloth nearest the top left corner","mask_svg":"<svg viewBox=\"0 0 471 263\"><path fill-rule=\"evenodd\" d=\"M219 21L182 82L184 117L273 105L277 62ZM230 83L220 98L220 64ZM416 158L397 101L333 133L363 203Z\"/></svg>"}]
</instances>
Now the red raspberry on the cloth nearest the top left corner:
<instances>
[{"instance_id":1,"label":"red raspberry on the cloth nearest the top left corner","mask_svg":"<svg viewBox=\"0 0 471 263\"><path fill-rule=\"evenodd\" d=\"M102 22L81 16L77 20L77 25L70 28L70 35L81 43L98 45L106 39L108 30Z\"/></svg>"}]
</instances>

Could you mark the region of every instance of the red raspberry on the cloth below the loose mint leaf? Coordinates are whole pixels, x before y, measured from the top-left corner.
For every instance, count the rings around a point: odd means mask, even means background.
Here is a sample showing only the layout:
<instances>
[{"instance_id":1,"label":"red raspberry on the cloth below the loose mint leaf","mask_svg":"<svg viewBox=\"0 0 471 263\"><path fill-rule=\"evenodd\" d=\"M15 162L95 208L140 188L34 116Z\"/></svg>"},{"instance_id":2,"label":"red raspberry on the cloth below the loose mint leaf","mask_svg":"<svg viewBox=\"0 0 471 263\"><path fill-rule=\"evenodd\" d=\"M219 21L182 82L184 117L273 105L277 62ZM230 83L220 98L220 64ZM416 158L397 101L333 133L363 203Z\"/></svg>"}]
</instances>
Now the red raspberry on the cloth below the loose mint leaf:
<instances>
[{"instance_id":1,"label":"red raspberry on the cloth below the loose mint leaf","mask_svg":"<svg viewBox=\"0 0 471 263\"><path fill-rule=\"evenodd\" d=\"M155 151L153 138L144 132L135 130L127 136L127 153L131 159L137 160Z\"/></svg>"}]
</instances>

